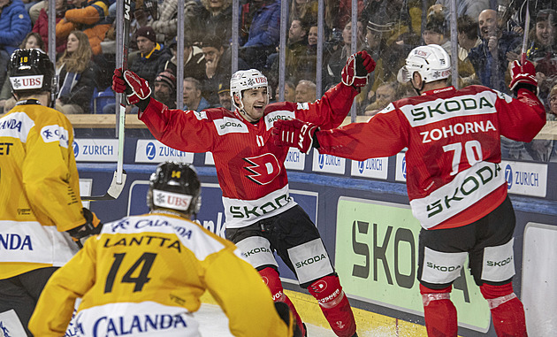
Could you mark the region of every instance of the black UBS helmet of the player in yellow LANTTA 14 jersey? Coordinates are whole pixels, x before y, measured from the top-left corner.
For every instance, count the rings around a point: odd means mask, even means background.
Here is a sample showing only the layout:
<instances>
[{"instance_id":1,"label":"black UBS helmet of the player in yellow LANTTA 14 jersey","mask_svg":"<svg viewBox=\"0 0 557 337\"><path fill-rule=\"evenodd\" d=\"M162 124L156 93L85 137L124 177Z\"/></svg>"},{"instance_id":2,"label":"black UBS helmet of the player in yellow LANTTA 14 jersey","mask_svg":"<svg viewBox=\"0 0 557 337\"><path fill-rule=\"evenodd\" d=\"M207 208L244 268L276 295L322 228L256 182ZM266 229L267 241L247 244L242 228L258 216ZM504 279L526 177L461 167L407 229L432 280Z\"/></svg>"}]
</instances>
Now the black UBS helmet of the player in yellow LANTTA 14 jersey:
<instances>
[{"instance_id":1,"label":"black UBS helmet of the player in yellow LANTTA 14 jersey","mask_svg":"<svg viewBox=\"0 0 557 337\"><path fill-rule=\"evenodd\" d=\"M149 209L161 208L197 214L201 207L201 182L192 165L165 162L156 166L149 179Z\"/></svg>"}]
</instances>

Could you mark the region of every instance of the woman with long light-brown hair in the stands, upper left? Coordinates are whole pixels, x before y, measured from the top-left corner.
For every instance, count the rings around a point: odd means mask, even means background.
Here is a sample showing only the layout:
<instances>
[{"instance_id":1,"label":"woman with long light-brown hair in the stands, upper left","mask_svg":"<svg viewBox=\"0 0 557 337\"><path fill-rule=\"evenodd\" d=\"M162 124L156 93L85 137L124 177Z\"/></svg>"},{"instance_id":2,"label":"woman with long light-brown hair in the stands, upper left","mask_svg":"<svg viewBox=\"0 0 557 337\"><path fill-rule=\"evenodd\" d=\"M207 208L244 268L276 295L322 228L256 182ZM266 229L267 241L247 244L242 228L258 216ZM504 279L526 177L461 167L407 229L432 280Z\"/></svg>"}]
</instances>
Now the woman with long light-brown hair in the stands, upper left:
<instances>
[{"instance_id":1,"label":"woman with long light-brown hair in the stands, upper left","mask_svg":"<svg viewBox=\"0 0 557 337\"><path fill-rule=\"evenodd\" d=\"M92 54L87 34L80 30L70 33L65 51L56 63L60 86L57 104L66 115L91 112L89 103L99 74Z\"/></svg>"}]
</instances>

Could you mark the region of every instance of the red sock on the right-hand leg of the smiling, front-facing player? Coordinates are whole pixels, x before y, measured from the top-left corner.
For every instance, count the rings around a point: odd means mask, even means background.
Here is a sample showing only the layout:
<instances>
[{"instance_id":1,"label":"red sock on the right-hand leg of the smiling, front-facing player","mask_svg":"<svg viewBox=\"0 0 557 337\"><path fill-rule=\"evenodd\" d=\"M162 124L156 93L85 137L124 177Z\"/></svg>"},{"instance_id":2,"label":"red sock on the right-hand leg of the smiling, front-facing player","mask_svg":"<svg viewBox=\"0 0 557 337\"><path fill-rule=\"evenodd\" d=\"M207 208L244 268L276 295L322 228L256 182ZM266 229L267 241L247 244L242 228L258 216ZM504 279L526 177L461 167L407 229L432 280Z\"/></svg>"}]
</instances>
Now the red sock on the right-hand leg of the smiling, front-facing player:
<instances>
[{"instance_id":1,"label":"red sock on the right-hand leg of the smiling, front-facing player","mask_svg":"<svg viewBox=\"0 0 557 337\"><path fill-rule=\"evenodd\" d=\"M339 277L325 276L313 282L308 290L319 302L332 331L340 337L352 337L355 334L354 313L340 287Z\"/></svg>"}]
</instances>

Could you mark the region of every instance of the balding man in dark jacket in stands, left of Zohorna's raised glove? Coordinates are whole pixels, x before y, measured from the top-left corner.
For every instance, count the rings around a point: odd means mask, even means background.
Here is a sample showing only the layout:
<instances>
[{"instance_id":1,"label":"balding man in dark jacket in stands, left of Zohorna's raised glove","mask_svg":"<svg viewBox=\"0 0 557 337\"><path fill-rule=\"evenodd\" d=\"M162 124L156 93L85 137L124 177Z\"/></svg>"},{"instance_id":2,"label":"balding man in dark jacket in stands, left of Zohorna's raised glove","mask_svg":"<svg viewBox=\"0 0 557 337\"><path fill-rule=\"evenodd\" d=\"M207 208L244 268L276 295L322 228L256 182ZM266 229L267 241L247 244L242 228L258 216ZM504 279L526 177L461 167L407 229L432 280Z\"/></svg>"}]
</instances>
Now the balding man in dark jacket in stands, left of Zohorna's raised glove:
<instances>
[{"instance_id":1,"label":"balding man in dark jacket in stands, left of Zohorna's raised glove","mask_svg":"<svg viewBox=\"0 0 557 337\"><path fill-rule=\"evenodd\" d=\"M483 85L508 93L503 74L507 73L507 52L518 50L522 39L497 25L497 11L485 10L478 16L482 42L469 51L468 57Z\"/></svg>"}]
</instances>

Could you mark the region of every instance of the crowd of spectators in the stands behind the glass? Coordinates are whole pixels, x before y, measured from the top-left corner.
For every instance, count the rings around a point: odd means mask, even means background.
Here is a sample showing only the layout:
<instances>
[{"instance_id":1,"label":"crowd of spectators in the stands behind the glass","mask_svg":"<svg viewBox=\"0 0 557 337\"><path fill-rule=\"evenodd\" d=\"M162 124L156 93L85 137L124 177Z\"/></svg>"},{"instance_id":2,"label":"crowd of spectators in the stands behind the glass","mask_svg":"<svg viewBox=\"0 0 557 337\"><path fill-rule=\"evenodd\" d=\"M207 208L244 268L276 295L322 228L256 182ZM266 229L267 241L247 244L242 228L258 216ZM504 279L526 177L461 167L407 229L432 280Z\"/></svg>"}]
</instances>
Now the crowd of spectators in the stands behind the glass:
<instances>
[{"instance_id":1,"label":"crowd of spectators in the stands behind the glass","mask_svg":"<svg viewBox=\"0 0 557 337\"><path fill-rule=\"evenodd\" d=\"M238 69L256 68L270 80L271 99L279 97L279 40L281 0L240 0ZM340 81L340 71L356 50L368 50L378 66L370 84L356 97L357 113L372 116L396 99L415 96L397 82L408 51L422 44L439 44L449 55L457 43L459 87L481 84L511 94L507 66L520 59L523 35L527 57L536 65L539 96L548 119L557 105L557 12L550 0L530 5L530 27L524 27L524 2L458 1L458 39L451 41L450 1L359 0L352 22L351 0L324 1L322 67L317 69L317 0L288 1L285 99L308 102L317 93L317 71L327 89ZM425 2L425 3L423 3ZM177 50L178 5L184 5L184 50ZM184 106L202 110L230 106L228 81L232 65L232 0L140 0L133 2L129 68L149 81L156 97L175 107L177 55L184 59ZM48 1L0 0L0 106L11 107L6 65L16 48L48 51ZM65 113L91 111L96 93L110 87L115 65L115 0L56 0L57 106ZM555 50L553 50L555 48ZM553 93L553 94L552 94ZM179 95L179 94L178 94ZM552 96L553 95L553 96ZM108 109L107 109L108 108ZM114 111L113 105L103 111ZM129 111L131 112L131 111ZM504 156L549 160L540 144L503 142ZM544 145L546 149L549 145ZM557 146L556 146L557 147ZM554 160L557 160L555 158Z\"/></svg>"}]
</instances>

